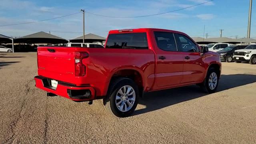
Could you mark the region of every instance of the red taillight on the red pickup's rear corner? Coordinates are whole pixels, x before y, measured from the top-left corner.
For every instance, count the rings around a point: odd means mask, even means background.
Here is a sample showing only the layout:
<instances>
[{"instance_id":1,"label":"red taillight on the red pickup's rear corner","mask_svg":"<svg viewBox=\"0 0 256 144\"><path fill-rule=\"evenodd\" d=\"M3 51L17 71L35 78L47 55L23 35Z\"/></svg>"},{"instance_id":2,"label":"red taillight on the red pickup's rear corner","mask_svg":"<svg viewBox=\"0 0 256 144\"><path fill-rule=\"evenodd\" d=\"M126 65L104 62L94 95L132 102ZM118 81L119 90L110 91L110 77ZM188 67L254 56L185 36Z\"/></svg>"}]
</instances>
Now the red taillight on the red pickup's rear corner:
<instances>
[{"instance_id":1,"label":"red taillight on the red pickup's rear corner","mask_svg":"<svg viewBox=\"0 0 256 144\"><path fill-rule=\"evenodd\" d=\"M84 76L86 67L82 63L83 58L88 58L89 54L87 52L75 52L75 74L76 76Z\"/></svg>"}]
</instances>

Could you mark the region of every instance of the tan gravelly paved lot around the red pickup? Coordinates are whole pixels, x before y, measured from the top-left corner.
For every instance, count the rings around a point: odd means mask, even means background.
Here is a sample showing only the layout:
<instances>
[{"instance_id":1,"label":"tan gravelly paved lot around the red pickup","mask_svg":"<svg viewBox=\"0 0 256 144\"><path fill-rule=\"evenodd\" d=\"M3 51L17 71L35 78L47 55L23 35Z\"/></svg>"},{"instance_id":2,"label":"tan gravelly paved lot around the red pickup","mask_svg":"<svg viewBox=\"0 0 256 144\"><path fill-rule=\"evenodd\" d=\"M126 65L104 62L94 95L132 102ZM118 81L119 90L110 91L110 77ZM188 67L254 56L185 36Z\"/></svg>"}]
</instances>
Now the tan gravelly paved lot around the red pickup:
<instances>
[{"instance_id":1,"label":"tan gravelly paved lot around the red pickup","mask_svg":"<svg viewBox=\"0 0 256 144\"><path fill-rule=\"evenodd\" d=\"M76 103L35 88L35 52L0 53L0 144L255 144L256 65L222 65L215 94L198 86L154 92L134 116L113 118L102 100Z\"/></svg>"}]
</instances>

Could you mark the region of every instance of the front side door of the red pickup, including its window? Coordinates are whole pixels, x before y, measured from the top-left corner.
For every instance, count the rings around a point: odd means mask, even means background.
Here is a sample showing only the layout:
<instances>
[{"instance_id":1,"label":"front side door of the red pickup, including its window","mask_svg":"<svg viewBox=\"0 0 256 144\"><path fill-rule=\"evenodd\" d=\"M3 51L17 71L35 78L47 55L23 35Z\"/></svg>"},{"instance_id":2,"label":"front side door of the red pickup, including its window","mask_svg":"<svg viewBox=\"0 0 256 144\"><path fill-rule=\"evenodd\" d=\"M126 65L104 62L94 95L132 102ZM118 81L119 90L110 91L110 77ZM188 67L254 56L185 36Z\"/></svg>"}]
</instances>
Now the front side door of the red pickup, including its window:
<instances>
[{"instance_id":1,"label":"front side door of the red pickup, including its window","mask_svg":"<svg viewBox=\"0 0 256 144\"><path fill-rule=\"evenodd\" d=\"M187 36L175 34L178 51L184 58L183 78L181 83L197 82L204 78L204 56L198 46Z\"/></svg>"}]
</instances>

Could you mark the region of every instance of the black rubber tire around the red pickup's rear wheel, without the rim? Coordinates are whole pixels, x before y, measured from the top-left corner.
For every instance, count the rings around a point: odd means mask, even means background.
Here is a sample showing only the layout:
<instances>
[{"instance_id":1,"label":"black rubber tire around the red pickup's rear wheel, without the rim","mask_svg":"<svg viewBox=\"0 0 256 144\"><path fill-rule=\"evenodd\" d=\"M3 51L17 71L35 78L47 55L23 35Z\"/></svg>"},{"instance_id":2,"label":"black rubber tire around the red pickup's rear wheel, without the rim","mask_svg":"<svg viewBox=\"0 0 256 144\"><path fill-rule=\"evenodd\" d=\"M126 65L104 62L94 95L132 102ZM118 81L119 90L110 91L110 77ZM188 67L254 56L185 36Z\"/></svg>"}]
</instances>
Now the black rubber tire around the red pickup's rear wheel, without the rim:
<instances>
[{"instance_id":1,"label":"black rubber tire around the red pickup's rear wheel, without the rim","mask_svg":"<svg viewBox=\"0 0 256 144\"><path fill-rule=\"evenodd\" d=\"M118 106L116 106L116 95L118 93L118 90L120 90L120 88L122 88L123 86L131 86L134 89L134 92L136 95L133 106L130 108L130 110L126 112L120 111L118 109ZM108 110L108 112L110 112L111 114L114 114L117 117L122 118L122 117L130 116L134 112L138 104L138 99L139 99L138 86L133 80L131 80L130 78L116 78L111 82L110 87L108 89L108 94L103 99L103 104L106 110Z\"/></svg>"}]
</instances>

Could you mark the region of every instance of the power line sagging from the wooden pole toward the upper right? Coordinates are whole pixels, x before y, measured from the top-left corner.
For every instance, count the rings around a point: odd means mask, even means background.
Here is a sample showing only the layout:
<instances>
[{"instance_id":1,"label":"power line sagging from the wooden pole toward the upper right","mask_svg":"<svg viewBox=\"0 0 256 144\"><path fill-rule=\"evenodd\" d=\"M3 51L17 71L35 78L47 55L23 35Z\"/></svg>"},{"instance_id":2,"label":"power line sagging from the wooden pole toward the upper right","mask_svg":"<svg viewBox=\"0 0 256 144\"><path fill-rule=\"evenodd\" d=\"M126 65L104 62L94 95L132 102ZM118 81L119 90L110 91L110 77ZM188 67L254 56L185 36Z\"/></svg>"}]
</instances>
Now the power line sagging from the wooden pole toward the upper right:
<instances>
[{"instance_id":1,"label":"power line sagging from the wooden pole toward the upper right","mask_svg":"<svg viewBox=\"0 0 256 144\"><path fill-rule=\"evenodd\" d=\"M172 10L172 11L168 11L168 12L162 12L162 13L158 13L158 14L149 14L149 15L144 15L144 16L105 16L105 15L101 15L101 14L94 14L92 12L88 12L86 11L86 13L88 14L92 14L92 15L95 15L95 16L102 16L102 17L107 17L107 18L141 18L141 17L147 17L147 16L156 16L156 15L160 15L160 14L167 14L167 13L170 13L170 12L176 12L176 11L179 11L179 10L185 10L187 8L192 8L192 7L195 7L195 6L199 6L199 5L202 5L202 4L206 4L208 2L212 2L214 0L209 0L207 2L203 2L203 3L200 3L200 4L196 4L196 5L193 5L193 6L188 6L188 7L185 7L185 8L180 8L178 10Z\"/></svg>"}]
</instances>

